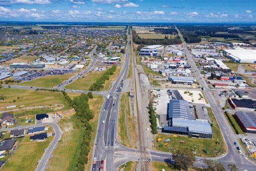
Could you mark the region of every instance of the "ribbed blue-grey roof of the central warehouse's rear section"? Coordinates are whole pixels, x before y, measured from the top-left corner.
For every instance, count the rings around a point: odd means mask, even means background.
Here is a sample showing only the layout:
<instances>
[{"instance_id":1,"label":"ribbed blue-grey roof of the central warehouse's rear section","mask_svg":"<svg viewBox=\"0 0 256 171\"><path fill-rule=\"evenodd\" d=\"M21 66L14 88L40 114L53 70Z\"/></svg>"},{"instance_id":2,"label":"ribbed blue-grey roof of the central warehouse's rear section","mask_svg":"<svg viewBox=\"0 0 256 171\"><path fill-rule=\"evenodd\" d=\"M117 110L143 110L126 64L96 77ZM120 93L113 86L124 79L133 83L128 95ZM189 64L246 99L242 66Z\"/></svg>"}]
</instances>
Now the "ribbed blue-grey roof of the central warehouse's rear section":
<instances>
[{"instance_id":1,"label":"ribbed blue-grey roof of the central warehouse's rear section","mask_svg":"<svg viewBox=\"0 0 256 171\"><path fill-rule=\"evenodd\" d=\"M185 118L191 119L191 113L187 101L170 100L169 103L169 119L172 118Z\"/></svg>"}]
</instances>

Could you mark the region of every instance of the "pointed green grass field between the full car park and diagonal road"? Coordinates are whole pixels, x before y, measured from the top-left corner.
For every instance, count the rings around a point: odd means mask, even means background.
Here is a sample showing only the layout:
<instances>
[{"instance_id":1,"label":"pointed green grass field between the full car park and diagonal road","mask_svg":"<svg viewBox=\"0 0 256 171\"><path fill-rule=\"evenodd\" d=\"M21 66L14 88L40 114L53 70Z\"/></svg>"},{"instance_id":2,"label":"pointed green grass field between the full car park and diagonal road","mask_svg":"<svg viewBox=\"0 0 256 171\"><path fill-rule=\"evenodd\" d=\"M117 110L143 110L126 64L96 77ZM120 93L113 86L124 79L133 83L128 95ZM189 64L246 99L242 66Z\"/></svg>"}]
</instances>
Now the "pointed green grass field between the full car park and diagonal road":
<instances>
[{"instance_id":1,"label":"pointed green grass field between the full car park and diagonal road","mask_svg":"<svg viewBox=\"0 0 256 171\"><path fill-rule=\"evenodd\" d=\"M49 75L49 76L43 76L38 79L34 79L32 81L28 82L21 82L19 85L23 86L32 86L32 87L55 87L59 85L60 83L64 82L65 80L71 78L74 76L75 73L69 73L64 75Z\"/></svg>"}]
</instances>

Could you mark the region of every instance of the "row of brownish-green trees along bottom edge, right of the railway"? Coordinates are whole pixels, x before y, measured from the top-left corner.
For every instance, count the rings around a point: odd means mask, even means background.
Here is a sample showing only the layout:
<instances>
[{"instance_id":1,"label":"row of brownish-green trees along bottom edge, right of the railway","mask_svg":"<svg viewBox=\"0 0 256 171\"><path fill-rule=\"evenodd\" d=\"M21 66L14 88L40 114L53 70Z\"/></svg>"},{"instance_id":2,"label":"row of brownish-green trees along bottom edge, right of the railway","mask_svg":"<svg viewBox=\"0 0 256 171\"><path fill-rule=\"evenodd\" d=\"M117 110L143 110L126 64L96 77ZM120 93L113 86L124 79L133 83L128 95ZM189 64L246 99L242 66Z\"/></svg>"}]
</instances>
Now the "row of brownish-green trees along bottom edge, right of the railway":
<instances>
[{"instance_id":1,"label":"row of brownish-green trees along bottom edge, right of the railway","mask_svg":"<svg viewBox=\"0 0 256 171\"><path fill-rule=\"evenodd\" d=\"M188 168L193 167L195 161L195 156L193 151L186 148L184 150L177 150L173 153L173 158L175 165L178 169L188 171ZM206 169L201 168L200 171L226 171L224 166L221 163L214 163L211 160L205 160L205 163L208 165ZM238 171L236 165L229 164L229 171Z\"/></svg>"}]
</instances>

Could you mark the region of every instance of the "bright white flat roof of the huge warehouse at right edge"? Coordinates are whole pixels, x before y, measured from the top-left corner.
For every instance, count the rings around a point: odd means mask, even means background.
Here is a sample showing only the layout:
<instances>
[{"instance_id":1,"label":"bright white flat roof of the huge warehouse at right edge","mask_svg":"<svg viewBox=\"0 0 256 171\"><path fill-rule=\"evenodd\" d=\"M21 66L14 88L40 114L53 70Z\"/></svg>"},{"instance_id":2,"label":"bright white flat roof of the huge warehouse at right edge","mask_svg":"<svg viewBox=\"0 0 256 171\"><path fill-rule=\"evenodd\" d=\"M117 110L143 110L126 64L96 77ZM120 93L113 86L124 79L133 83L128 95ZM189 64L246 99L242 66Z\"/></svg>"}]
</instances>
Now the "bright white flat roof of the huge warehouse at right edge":
<instances>
[{"instance_id":1,"label":"bright white flat roof of the huge warehouse at right edge","mask_svg":"<svg viewBox=\"0 0 256 171\"><path fill-rule=\"evenodd\" d=\"M256 50L252 49L225 49L225 52L233 55L235 58L241 60L241 62L254 62L256 61Z\"/></svg>"}]
</instances>

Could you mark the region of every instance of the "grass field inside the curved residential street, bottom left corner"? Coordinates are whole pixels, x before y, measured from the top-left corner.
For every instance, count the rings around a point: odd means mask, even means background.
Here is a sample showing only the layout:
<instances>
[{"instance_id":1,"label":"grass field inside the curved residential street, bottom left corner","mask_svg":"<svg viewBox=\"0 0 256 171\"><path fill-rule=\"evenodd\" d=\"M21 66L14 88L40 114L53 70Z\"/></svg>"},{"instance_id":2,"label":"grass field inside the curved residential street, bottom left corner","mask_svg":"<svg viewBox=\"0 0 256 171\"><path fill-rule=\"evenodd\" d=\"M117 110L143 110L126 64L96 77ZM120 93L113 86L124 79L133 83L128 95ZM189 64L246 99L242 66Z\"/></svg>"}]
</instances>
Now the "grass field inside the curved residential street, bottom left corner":
<instances>
[{"instance_id":1,"label":"grass field inside the curved residential street, bottom left corner","mask_svg":"<svg viewBox=\"0 0 256 171\"><path fill-rule=\"evenodd\" d=\"M49 146L54 137L48 137L46 141L21 144L14 152L2 171L34 171L37 162L43 156L44 150Z\"/></svg>"}]
</instances>

